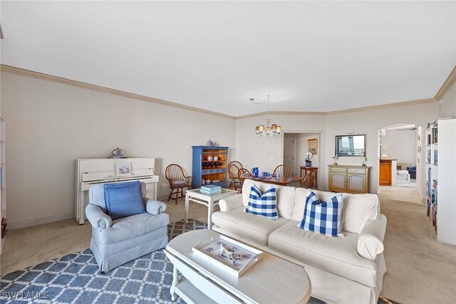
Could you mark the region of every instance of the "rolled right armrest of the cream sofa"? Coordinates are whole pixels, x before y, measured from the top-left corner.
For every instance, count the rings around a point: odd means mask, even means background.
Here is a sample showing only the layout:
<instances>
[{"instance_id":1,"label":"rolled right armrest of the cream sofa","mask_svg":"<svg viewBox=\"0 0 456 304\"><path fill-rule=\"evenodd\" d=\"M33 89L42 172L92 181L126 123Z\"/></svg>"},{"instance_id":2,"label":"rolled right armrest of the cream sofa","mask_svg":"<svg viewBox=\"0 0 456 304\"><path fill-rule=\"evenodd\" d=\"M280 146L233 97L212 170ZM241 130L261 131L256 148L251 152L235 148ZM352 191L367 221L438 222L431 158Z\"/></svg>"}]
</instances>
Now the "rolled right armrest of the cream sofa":
<instances>
[{"instance_id":1,"label":"rolled right armrest of the cream sofa","mask_svg":"<svg viewBox=\"0 0 456 304\"><path fill-rule=\"evenodd\" d=\"M386 216L380 214L377 219L368 221L358 237L358 254L363 258L375 261L383 252L383 238L386 231Z\"/></svg>"}]
</instances>

